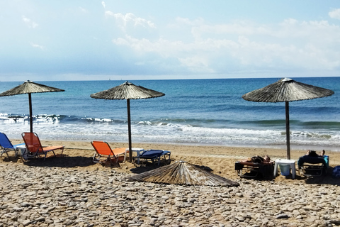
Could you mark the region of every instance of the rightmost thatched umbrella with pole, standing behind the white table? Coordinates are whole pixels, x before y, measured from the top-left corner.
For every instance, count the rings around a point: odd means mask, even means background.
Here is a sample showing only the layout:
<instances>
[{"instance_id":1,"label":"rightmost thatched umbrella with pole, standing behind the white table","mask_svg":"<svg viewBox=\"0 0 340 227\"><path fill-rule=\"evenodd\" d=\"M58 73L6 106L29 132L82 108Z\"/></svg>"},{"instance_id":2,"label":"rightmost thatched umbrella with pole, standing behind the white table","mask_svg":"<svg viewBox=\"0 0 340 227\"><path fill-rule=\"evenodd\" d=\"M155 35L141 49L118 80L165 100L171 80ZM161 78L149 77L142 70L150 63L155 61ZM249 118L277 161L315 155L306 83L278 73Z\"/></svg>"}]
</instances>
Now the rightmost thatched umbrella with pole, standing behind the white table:
<instances>
[{"instance_id":1,"label":"rightmost thatched umbrella with pole, standing behind the white table","mask_svg":"<svg viewBox=\"0 0 340 227\"><path fill-rule=\"evenodd\" d=\"M289 101L317 99L334 94L329 89L296 82L294 79L284 78L261 89L254 90L242 96L246 101L285 102L285 123L287 138L287 158L290 159L290 129L289 129Z\"/></svg>"}]
</instances>

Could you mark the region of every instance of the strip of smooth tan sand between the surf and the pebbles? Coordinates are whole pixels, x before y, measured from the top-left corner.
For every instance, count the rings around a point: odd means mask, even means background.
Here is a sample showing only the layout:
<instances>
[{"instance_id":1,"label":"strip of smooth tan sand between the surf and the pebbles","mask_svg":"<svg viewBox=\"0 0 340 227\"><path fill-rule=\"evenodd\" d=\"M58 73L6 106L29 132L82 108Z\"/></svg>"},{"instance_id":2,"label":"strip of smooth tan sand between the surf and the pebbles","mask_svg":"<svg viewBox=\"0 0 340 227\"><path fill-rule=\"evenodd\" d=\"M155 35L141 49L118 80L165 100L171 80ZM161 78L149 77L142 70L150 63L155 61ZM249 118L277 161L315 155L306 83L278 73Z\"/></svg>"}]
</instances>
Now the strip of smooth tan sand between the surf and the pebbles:
<instances>
[{"instance_id":1,"label":"strip of smooth tan sand between the surf and the pebbles","mask_svg":"<svg viewBox=\"0 0 340 227\"><path fill-rule=\"evenodd\" d=\"M23 143L21 140L12 140L14 143ZM128 143L109 143L111 148L128 148ZM53 159L53 163L60 167L84 167L91 170L92 168L101 167L99 164L94 164L91 161L91 157L94 155L94 148L90 142L86 141L54 141L47 140L43 141L42 145L64 145L64 158L63 159ZM239 148L239 147L225 147L225 146L205 146L205 145L175 145L175 144L149 144L149 143L133 143L133 148L144 148L144 149L162 149L171 151L171 162L183 160L189 162L193 165L200 165L209 167L212 172L221 177L227 179L237 179L237 174L234 171L234 163L239 160L244 160L247 157L252 157L255 155L269 155L271 160L276 160L278 158L285 159L287 153L285 149L273 149L273 148ZM319 153L321 150L317 150ZM58 151L57 151L58 153ZM290 157L293 160L298 160L299 157L305 155L306 150L291 150ZM340 152L332 152L326 150L326 155L329 155L329 165L334 167L340 165ZM78 158L79 157L79 158ZM86 158L87 157L87 158ZM4 160L4 158L2 159ZM86 160L86 162L84 161ZM128 160L128 158L127 158ZM33 160L34 164L31 165L44 165L43 163L49 162L37 162L38 160ZM18 160L21 162L21 160ZM26 162L27 165L29 162ZM133 174L136 166L130 162L120 162L120 167L115 167L115 171L124 172L126 174ZM109 167L107 165L106 167ZM144 166L140 167L143 169ZM154 168L153 166L146 166L144 168ZM140 170L145 171L145 170ZM336 179L330 177L324 177L319 180L327 184L336 183ZM304 177L300 177L297 174L297 179L305 181ZM283 181L288 183L297 182L290 178L286 178L278 175L275 181ZM308 179L310 180L310 179ZM322 183L320 182L320 183Z\"/></svg>"}]
</instances>

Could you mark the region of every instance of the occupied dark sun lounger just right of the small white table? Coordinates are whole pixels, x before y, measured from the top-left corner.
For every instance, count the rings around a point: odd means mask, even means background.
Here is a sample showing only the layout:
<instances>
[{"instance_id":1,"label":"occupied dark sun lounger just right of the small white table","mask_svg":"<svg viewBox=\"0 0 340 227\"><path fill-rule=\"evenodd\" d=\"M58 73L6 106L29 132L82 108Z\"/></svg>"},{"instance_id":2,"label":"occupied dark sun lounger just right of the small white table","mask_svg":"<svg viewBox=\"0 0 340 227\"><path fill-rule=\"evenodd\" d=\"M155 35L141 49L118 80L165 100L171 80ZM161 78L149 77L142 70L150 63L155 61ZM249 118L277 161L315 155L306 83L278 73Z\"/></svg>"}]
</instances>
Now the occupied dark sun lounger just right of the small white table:
<instances>
[{"instance_id":1,"label":"occupied dark sun lounger just right of the small white table","mask_svg":"<svg viewBox=\"0 0 340 227\"><path fill-rule=\"evenodd\" d=\"M307 177L322 176L327 173L329 167L329 157L304 155L297 160L300 174Z\"/></svg>"}]
</instances>

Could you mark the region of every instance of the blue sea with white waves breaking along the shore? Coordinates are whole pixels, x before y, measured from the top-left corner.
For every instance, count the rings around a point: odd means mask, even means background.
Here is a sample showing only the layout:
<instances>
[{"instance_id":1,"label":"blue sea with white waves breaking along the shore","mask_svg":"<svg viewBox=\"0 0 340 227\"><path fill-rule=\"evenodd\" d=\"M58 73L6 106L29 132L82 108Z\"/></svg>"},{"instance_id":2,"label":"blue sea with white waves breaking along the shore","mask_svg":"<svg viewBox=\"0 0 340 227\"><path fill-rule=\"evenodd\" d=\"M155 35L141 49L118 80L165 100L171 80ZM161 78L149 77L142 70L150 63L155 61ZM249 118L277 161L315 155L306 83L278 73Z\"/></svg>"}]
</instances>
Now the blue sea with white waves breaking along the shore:
<instances>
[{"instance_id":1,"label":"blue sea with white waves breaking along the shore","mask_svg":"<svg viewBox=\"0 0 340 227\"><path fill-rule=\"evenodd\" d=\"M130 100L133 143L285 148L285 103L245 101L242 95L281 78L132 80L163 92ZM340 151L340 77L292 78L334 95L290 102L292 149ZM38 81L37 81L38 82ZM64 92L32 94L33 131L41 140L128 143L126 100L90 94L124 80L38 82ZM0 92L23 82L0 82ZM21 139L30 131L28 94L0 97L0 131Z\"/></svg>"}]
</instances>

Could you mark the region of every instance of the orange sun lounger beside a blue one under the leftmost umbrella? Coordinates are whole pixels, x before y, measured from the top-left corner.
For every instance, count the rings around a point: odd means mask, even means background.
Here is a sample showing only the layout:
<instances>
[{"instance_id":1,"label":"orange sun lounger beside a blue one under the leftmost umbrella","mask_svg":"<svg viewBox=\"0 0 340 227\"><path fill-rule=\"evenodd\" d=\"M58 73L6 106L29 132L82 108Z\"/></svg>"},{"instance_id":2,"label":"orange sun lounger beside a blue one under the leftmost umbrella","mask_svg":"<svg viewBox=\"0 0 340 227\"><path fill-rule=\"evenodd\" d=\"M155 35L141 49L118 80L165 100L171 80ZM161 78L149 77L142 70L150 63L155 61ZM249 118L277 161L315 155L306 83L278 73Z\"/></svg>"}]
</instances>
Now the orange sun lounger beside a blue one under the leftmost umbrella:
<instances>
[{"instance_id":1,"label":"orange sun lounger beside a blue one under the leftmost umbrella","mask_svg":"<svg viewBox=\"0 0 340 227\"><path fill-rule=\"evenodd\" d=\"M28 158L40 158L40 155L44 155L45 160L47 153L50 151L52 151L53 155L55 155L55 150L62 150L62 153L64 152L64 145L42 147L37 133L21 133L21 135L26 145L26 153L28 153L25 155L27 155ZM55 155L55 157L57 157L57 155Z\"/></svg>"}]
</instances>

